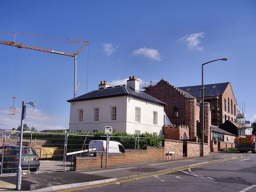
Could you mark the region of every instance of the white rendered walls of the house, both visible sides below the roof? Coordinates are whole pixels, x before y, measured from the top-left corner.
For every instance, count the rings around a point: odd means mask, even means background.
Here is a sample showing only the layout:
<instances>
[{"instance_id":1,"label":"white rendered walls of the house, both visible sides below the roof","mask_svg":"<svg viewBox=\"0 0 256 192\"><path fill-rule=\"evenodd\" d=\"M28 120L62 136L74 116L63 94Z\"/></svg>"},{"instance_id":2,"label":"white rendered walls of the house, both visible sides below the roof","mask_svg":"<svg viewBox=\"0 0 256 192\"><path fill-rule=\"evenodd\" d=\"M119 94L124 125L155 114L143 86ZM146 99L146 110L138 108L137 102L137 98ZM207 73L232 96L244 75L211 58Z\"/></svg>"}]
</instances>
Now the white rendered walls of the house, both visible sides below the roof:
<instances>
[{"instance_id":1,"label":"white rendered walls of the house, both visible sides below the roof","mask_svg":"<svg viewBox=\"0 0 256 192\"><path fill-rule=\"evenodd\" d=\"M110 106L117 107L117 120L110 121ZM135 121L135 108L140 108L140 122ZM99 108L99 121L93 122L93 109ZM77 122L77 110L83 109L83 122ZM153 111L157 112L157 125L153 124ZM127 112L127 113L126 113ZM112 126L117 132L134 134L157 133L162 135L164 108L162 105L140 100L131 96L93 99L70 103L70 132L93 130L104 131Z\"/></svg>"}]
</instances>

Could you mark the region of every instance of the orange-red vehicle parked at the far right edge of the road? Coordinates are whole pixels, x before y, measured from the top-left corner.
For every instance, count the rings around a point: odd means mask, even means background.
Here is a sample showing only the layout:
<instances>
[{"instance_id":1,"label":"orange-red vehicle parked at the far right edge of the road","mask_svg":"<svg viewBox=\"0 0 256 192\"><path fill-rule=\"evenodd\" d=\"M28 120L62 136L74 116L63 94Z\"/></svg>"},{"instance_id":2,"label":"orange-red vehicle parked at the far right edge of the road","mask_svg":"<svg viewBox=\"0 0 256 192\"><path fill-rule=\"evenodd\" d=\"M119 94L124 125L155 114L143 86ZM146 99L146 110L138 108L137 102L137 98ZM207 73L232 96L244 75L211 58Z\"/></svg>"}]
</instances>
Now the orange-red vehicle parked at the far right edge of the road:
<instances>
[{"instance_id":1,"label":"orange-red vehicle parked at the far right edge of the road","mask_svg":"<svg viewBox=\"0 0 256 192\"><path fill-rule=\"evenodd\" d=\"M256 143L254 135L247 135L246 137L236 138L237 148L240 153L252 152L256 153Z\"/></svg>"}]
</instances>

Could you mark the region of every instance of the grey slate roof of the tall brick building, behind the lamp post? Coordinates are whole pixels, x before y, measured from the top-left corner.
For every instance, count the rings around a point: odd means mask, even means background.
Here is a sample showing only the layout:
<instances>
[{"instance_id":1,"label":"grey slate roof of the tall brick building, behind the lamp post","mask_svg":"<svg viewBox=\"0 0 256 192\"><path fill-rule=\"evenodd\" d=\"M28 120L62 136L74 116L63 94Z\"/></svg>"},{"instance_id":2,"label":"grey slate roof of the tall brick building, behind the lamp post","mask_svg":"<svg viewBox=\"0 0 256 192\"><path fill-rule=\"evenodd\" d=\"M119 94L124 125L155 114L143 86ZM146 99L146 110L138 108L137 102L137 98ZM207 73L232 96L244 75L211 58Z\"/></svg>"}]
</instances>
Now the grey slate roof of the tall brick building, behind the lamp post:
<instances>
[{"instance_id":1,"label":"grey slate roof of the tall brick building, behind the lamp post","mask_svg":"<svg viewBox=\"0 0 256 192\"><path fill-rule=\"evenodd\" d=\"M219 96L222 96L225 89L227 88L229 82L222 82L222 83L215 83L215 84L204 84L204 96L210 97L210 96L217 96L217 93ZM189 93L190 95L194 97L200 97L202 92L202 85L200 86L187 86L187 87L180 87L178 89L185 91Z\"/></svg>"}]
</instances>

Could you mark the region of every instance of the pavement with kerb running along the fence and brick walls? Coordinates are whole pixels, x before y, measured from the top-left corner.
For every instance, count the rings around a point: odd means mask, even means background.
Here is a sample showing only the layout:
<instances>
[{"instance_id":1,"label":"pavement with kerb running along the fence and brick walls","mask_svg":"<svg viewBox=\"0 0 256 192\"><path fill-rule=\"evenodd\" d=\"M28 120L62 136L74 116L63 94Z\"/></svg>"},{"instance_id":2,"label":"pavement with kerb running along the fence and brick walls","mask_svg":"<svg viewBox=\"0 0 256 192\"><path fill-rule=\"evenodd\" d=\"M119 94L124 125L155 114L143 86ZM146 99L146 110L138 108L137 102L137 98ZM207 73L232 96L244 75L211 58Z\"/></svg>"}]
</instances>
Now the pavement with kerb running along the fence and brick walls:
<instances>
[{"instance_id":1,"label":"pavement with kerb running along the fence and brick walls","mask_svg":"<svg viewBox=\"0 0 256 192\"><path fill-rule=\"evenodd\" d=\"M184 168L200 166L241 157L237 153L210 153L209 156L181 160L136 163L108 168L86 169L82 172L50 172L22 175L22 191L61 191L126 179L153 176ZM0 175L0 191L16 191L16 174Z\"/></svg>"}]
</instances>

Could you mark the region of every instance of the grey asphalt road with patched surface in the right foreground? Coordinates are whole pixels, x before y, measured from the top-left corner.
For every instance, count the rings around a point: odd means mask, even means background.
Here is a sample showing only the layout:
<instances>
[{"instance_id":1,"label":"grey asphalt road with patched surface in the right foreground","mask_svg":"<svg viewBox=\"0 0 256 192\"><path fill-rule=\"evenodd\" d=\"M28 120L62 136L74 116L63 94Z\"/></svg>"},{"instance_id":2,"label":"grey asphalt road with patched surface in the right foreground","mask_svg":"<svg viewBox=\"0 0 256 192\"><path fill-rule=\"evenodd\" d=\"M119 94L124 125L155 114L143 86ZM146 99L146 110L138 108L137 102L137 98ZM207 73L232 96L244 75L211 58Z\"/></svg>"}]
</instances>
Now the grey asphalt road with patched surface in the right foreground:
<instances>
[{"instance_id":1,"label":"grey asphalt road with patched surface in the right foreground","mask_svg":"<svg viewBox=\"0 0 256 192\"><path fill-rule=\"evenodd\" d=\"M178 172L67 191L256 191L256 154Z\"/></svg>"}]
</instances>

